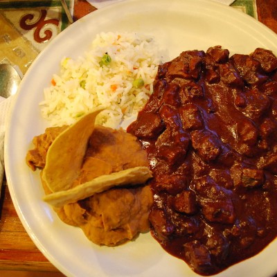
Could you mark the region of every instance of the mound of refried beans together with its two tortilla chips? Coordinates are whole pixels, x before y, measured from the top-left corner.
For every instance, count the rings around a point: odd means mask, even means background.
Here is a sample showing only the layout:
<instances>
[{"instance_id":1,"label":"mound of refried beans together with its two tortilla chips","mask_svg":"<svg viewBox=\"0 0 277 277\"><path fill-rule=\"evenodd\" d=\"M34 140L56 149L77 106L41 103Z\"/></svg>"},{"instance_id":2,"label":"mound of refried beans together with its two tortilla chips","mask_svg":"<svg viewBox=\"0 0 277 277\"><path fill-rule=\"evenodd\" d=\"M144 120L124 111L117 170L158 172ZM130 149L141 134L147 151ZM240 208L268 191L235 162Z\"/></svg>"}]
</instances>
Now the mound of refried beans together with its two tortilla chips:
<instances>
[{"instance_id":1,"label":"mound of refried beans together with its two tortilla chips","mask_svg":"<svg viewBox=\"0 0 277 277\"><path fill-rule=\"evenodd\" d=\"M94 125L101 110L47 128L33 139L26 162L42 169L44 199L62 221L96 244L114 246L149 230L152 174L135 136Z\"/></svg>"}]
</instances>

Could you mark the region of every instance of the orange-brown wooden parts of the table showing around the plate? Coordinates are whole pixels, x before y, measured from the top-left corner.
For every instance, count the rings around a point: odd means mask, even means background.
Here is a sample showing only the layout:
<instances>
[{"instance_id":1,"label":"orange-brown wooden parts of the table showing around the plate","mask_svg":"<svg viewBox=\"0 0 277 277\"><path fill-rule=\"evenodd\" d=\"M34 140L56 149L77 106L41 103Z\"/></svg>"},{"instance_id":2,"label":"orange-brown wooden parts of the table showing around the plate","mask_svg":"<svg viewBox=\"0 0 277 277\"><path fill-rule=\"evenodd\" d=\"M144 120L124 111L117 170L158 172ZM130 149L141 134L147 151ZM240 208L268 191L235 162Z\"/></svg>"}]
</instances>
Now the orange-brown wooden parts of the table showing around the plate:
<instances>
[{"instance_id":1,"label":"orange-brown wooden parts of the table showing around the plate","mask_svg":"<svg viewBox=\"0 0 277 277\"><path fill-rule=\"evenodd\" d=\"M255 3L255 1L253 1ZM249 5L237 0L234 6ZM85 0L75 0L74 19L96 10ZM256 0L256 18L277 33L276 0ZM255 16L254 16L255 17ZM10 198L8 186L3 186L0 199L0 276L1 277L60 277L58 271L37 249L26 233ZM277 277L277 275L275 276Z\"/></svg>"}]
</instances>

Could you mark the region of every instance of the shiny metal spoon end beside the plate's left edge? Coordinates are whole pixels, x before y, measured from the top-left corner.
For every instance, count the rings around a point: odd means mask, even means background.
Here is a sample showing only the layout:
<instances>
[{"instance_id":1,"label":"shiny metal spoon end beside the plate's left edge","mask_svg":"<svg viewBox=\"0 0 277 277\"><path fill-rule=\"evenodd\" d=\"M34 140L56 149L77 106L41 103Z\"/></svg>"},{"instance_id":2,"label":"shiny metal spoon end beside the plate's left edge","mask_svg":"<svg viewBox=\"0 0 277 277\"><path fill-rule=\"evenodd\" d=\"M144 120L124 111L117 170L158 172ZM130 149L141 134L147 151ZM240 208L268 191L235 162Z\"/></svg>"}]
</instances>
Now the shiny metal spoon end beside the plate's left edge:
<instances>
[{"instance_id":1,"label":"shiny metal spoon end beside the plate's left edge","mask_svg":"<svg viewBox=\"0 0 277 277\"><path fill-rule=\"evenodd\" d=\"M0 64L0 96L8 98L17 92L19 73L10 64Z\"/></svg>"}]
</instances>

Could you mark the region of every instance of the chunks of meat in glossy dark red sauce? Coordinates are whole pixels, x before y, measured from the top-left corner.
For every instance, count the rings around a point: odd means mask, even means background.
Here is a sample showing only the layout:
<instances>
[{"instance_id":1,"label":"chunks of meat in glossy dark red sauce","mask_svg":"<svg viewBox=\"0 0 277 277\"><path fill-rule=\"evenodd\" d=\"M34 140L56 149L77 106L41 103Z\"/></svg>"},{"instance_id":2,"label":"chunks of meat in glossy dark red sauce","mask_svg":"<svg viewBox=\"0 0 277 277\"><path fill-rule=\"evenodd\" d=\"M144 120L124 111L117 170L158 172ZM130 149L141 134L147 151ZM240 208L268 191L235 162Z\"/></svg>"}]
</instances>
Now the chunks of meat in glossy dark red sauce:
<instances>
[{"instance_id":1,"label":"chunks of meat in glossy dark red sauce","mask_svg":"<svg viewBox=\"0 0 277 277\"><path fill-rule=\"evenodd\" d=\"M159 66L127 132L154 175L152 235L198 274L217 274L276 238L274 53L184 51Z\"/></svg>"}]
</instances>

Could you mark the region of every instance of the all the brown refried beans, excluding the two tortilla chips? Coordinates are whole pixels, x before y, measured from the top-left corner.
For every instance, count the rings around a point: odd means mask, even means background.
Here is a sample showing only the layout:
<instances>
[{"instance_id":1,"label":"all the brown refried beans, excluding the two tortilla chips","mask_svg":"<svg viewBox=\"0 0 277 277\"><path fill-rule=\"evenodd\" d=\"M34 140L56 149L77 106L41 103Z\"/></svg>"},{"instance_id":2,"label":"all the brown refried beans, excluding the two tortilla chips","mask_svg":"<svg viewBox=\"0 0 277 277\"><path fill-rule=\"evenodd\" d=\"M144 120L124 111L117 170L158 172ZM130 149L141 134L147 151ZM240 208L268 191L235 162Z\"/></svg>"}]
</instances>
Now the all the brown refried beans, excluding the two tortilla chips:
<instances>
[{"instance_id":1,"label":"all the brown refried beans, excluding the two tortilla chips","mask_svg":"<svg viewBox=\"0 0 277 277\"><path fill-rule=\"evenodd\" d=\"M43 170L48 148L64 129L66 126L50 127L44 134L35 136L35 148L26 155L30 168ZM149 166L147 154L138 139L123 129L96 126L89 139L80 175L73 186L82 186L101 175L136 166ZM43 179L42 185L46 194L51 193ZM80 227L92 242L113 247L149 231L152 203L152 190L145 184L112 188L54 210L66 224Z\"/></svg>"}]
</instances>

